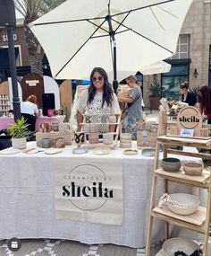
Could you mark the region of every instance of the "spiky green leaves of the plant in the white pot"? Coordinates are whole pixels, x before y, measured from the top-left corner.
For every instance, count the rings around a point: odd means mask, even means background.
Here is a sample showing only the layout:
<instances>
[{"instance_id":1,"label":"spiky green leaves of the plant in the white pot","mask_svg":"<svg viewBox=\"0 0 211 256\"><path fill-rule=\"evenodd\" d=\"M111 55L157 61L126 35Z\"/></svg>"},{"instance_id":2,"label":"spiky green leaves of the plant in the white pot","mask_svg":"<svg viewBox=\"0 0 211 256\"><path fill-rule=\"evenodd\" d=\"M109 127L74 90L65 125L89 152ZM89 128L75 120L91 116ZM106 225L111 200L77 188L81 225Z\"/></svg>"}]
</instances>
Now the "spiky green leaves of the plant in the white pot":
<instances>
[{"instance_id":1,"label":"spiky green leaves of the plant in the white pot","mask_svg":"<svg viewBox=\"0 0 211 256\"><path fill-rule=\"evenodd\" d=\"M29 132L29 124L26 123L26 120L21 117L21 119L18 119L10 128L9 128L9 134L12 137L18 138L18 137L27 137L30 135Z\"/></svg>"}]
</instances>

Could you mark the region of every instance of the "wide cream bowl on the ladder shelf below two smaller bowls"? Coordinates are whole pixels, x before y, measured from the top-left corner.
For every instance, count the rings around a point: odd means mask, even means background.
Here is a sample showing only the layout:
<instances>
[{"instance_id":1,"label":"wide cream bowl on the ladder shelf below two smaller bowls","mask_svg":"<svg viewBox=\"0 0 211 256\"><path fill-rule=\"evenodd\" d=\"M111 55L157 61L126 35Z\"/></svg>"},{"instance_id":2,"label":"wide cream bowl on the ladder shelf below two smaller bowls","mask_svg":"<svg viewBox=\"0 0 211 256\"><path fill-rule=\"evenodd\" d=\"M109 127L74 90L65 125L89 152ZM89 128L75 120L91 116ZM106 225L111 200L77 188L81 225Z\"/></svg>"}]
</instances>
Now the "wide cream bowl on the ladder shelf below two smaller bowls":
<instances>
[{"instance_id":1,"label":"wide cream bowl on the ladder shelf below two smaller bowls","mask_svg":"<svg viewBox=\"0 0 211 256\"><path fill-rule=\"evenodd\" d=\"M167 207L178 215L193 214L200 204L197 197L185 193L171 194L169 195L169 200L171 202L167 201Z\"/></svg>"}]
</instances>

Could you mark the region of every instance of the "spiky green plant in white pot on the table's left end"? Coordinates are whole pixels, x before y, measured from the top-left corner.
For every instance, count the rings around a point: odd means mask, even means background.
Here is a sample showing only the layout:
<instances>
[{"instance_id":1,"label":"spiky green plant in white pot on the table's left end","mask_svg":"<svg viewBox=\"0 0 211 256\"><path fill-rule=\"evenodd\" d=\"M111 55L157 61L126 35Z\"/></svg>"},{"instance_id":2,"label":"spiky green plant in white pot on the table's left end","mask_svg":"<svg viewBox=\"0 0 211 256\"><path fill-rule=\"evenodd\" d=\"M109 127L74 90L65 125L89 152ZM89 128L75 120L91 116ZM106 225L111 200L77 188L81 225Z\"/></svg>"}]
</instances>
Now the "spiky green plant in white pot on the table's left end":
<instances>
[{"instance_id":1,"label":"spiky green plant in white pot on the table's left end","mask_svg":"<svg viewBox=\"0 0 211 256\"><path fill-rule=\"evenodd\" d=\"M13 148L26 148L27 136L30 134L28 126L29 124L26 123L26 120L21 117L9 128Z\"/></svg>"}]
</instances>

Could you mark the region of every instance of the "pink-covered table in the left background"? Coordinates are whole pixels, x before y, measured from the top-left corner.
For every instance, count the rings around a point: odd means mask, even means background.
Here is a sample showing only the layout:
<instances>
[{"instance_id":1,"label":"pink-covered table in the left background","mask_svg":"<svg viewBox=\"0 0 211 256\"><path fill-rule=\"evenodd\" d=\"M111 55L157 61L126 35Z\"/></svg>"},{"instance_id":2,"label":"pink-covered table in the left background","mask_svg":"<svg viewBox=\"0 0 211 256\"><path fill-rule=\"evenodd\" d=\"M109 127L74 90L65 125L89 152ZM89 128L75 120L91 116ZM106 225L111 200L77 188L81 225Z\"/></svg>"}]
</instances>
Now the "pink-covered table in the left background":
<instances>
[{"instance_id":1,"label":"pink-covered table in the left background","mask_svg":"<svg viewBox=\"0 0 211 256\"><path fill-rule=\"evenodd\" d=\"M58 120L60 123L63 123L65 116L55 116L55 117L39 117L36 119L36 130L39 130L41 123L51 124L52 121ZM0 117L0 130L9 128L10 125L14 123L13 117Z\"/></svg>"}]
</instances>

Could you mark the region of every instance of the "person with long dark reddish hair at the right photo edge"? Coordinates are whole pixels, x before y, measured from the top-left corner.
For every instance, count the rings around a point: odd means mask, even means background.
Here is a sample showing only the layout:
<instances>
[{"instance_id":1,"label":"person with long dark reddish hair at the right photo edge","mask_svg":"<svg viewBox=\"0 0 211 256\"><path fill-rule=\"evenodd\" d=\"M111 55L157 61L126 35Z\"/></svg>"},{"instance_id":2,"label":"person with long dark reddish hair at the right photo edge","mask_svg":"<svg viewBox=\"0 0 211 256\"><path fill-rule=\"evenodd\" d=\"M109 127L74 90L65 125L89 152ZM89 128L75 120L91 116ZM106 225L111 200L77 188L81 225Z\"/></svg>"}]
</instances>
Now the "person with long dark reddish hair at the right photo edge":
<instances>
[{"instance_id":1,"label":"person with long dark reddish hair at the right photo edge","mask_svg":"<svg viewBox=\"0 0 211 256\"><path fill-rule=\"evenodd\" d=\"M207 123L211 124L211 88L207 85L198 88L198 107L201 115L207 116Z\"/></svg>"}]
</instances>

